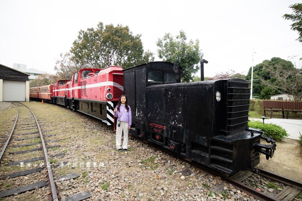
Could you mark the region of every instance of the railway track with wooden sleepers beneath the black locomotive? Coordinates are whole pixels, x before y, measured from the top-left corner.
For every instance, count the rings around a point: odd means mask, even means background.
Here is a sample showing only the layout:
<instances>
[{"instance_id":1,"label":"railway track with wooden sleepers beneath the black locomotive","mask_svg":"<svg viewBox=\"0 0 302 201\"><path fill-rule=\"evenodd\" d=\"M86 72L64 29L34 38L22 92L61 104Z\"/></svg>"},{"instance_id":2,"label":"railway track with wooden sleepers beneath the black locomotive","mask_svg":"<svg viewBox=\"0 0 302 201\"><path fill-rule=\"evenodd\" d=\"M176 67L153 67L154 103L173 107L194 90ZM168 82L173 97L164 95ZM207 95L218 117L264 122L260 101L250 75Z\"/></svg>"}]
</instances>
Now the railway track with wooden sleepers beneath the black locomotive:
<instances>
[{"instance_id":1,"label":"railway track with wooden sleepers beneath the black locomotive","mask_svg":"<svg viewBox=\"0 0 302 201\"><path fill-rule=\"evenodd\" d=\"M133 137L133 136L132 136ZM220 174L217 171L214 171L213 169L201 165L197 162L191 161L190 159L186 159L182 156L179 155L175 155L174 152L170 152L167 149L163 149L160 146L151 144L147 141L143 141L140 138L134 137L137 140L147 143L149 144L149 146L153 147L154 149L161 151L161 152L166 152L169 153L170 155L175 156L176 158L183 160L185 162L188 162L190 165L200 169L202 172L212 175L214 177L221 177L222 180L232 184L234 187L236 187L237 189L249 194L250 196L253 196L259 200L266 200L266 201L291 201L295 198L295 196L301 192L302 190L302 183L292 180L290 178L287 177L283 177L281 175L260 169L260 168L253 168L252 171L241 171L238 172L237 174L233 175L232 177L228 177L225 176L223 174ZM191 173L190 170L185 170L183 171L183 173L185 173L185 176L189 175ZM282 184L285 184L285 188L283 190L281 190L280 193L278 193L275 196L271 196L269 194L263 193L261 191L259 191L259 189L257 190L255 187L251 187L247 184L244 184L244 181L248 178L251 177L252 174L256 174L256 175L261 175L262 177L266 177L266 178L270 178L274 181L278 181ZM210 189L211 191L214 191L217 194L220 194L220 192L223 191L223 185L216 185L215 187Z\"/></svg>"}]
</instances>

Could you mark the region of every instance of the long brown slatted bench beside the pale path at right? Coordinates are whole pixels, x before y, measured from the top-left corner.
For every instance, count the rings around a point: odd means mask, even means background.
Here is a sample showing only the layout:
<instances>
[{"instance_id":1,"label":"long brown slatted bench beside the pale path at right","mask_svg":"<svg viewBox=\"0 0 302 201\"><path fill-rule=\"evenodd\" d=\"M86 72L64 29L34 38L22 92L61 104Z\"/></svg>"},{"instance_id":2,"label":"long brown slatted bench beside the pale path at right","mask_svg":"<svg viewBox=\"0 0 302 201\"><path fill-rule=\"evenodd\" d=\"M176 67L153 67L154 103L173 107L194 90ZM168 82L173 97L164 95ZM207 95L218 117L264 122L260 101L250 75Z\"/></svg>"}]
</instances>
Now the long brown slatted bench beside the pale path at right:
<instances>
[{"instance_id":1,"label":"long brown slatted bench beside the pale path at right","mask_svg":"<svg viewBox=\"0 0 302 201\"><path fill-rule=\"evenodd\" d=\"M263 110L265 117L265 111L271 111L271 118L273 117L273 112L281 111L282 118L284 118L284 112L287 112L286 118L288 119L289 112L302 112L302 102L264 100Z\"/></svg>"}]
</instances>

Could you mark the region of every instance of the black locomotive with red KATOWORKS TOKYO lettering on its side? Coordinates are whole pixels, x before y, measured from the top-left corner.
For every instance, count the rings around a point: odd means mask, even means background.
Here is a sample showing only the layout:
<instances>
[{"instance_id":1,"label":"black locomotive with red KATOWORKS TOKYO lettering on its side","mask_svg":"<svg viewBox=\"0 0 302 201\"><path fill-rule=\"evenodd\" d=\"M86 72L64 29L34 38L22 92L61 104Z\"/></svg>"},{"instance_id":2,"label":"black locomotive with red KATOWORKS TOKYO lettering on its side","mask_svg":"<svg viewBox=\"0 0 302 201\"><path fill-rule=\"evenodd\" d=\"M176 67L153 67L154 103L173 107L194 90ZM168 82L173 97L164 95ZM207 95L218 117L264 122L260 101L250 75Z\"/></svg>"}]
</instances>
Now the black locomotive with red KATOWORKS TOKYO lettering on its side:
<instances>
[{"instance_id":1,"label":"black locomotive with red KATOWORKS TOKYO lettering on its side","mask_svg":"<svg viewBox=\"0 0 302 201\"><path fill-rule=\"evenodd\" d=\"M124 92L132 110L130 133L217 171L232 175L272 157L275 141L248 127L246 80L180 83L169 62L124 70ZM268 143L261 144L260 138Z\"/></svg>"}]
</instances>

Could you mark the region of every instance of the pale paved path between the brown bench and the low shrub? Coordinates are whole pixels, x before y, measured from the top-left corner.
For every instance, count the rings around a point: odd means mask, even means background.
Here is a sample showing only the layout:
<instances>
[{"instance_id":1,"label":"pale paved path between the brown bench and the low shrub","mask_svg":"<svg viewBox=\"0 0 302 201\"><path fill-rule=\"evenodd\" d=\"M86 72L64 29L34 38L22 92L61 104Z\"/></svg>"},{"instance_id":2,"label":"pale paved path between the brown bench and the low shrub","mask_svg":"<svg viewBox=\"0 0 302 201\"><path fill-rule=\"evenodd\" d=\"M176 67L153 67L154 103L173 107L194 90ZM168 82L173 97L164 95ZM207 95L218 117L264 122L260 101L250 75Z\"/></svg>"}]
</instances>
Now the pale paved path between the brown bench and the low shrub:
<instances>
[{"instance_id":1,"label":"pale paved path between the brown bench and the low shrub","mask_svg":"<svg viewBox=\"0 0 302 201\"><path fill-rule=\"evenodd\" d=\"M251 119L250 119L251 120ZM263 121L262 119L254 119L258 121ZM277 119L277 118L267 118L264 120L265 124L273 123L284 128L289 136L287 138L299 140L300 133L302 135L302 120L301 119ZM299 133L300 132L300 133Z\"/></svg>"}]
</instances>

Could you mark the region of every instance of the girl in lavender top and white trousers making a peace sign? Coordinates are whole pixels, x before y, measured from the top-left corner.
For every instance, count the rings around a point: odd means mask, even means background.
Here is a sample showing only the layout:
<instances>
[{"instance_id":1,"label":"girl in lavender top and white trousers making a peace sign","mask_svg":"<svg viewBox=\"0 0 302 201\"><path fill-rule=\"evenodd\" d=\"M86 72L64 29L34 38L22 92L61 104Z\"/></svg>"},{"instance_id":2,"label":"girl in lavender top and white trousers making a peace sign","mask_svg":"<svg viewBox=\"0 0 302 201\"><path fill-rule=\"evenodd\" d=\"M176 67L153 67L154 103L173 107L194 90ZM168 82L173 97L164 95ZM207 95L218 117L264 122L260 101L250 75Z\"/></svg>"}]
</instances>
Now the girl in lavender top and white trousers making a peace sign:
<instances>
[{"instance_id":1,"label":"girl in lavender top and white trousers making a peace sign","mask_svg":"<svg viewBox=\"0 0 302 201\"><path fill-rule=\"evenodd\" d=\"M119 152L122 151L120 143L122 139L122 132L124 132L123 150L124 152L127 152L128 130L130 130L131 127L131 109L127 104L127 97L125 95L120 96L120 100L117 103L113 113L114 116L117 117L116 148Z\"/></svg>"}]
</instances>

